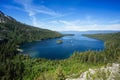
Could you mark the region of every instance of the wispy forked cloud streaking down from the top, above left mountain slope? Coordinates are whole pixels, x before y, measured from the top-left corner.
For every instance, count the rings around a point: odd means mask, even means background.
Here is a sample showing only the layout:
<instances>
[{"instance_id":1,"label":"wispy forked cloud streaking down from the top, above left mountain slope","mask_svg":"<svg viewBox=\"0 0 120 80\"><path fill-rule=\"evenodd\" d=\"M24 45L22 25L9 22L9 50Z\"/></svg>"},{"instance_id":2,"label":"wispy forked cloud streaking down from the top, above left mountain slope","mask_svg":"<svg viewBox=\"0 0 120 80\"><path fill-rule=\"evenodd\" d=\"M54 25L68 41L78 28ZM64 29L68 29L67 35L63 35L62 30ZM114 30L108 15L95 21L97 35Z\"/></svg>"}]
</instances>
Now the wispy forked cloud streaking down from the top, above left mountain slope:
<instances>
[{"instance_id":1,"label":"wispy forked cloud streaking down from the top, above left mountain slope","mask_svg":"<svg viewBox=\"0 0 120 80\"><path fill-rule=\"evenodd\" d=\"M34 26L38 26L38 24L40 23L40 20L36 18L36 14L46 14L52 16L52 18L63 16L62 14L57 13L56 11L44 5L39 5L39 6L34 5L33 0L15 0L15 2L24 7L24 10L28 13Z\"/></svg>"}]
</instances>

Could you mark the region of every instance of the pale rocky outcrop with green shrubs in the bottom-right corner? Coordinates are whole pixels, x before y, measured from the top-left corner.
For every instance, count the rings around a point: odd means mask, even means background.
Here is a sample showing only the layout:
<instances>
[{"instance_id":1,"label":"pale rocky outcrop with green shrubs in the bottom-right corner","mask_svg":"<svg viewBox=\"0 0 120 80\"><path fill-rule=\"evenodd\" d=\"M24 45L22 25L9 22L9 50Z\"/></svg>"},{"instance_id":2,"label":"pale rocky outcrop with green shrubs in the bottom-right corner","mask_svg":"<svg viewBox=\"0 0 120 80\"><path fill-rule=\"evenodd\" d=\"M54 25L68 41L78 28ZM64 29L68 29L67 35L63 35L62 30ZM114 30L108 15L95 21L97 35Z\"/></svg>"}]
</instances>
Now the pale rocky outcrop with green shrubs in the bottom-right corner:
<instances>
[{"instance_id":1,"label":"pale rocky outcrop with green shrubs in the bottom-right corner","mask_svg":"<svg viewBox=\"0 0 120 80\"><path fill-rule=\"evenodd\" d=\"M113 63L98 69L89 69L79 78L66 80L117 80L120 78L120 64Z\"/></svg>"}]
</instances>

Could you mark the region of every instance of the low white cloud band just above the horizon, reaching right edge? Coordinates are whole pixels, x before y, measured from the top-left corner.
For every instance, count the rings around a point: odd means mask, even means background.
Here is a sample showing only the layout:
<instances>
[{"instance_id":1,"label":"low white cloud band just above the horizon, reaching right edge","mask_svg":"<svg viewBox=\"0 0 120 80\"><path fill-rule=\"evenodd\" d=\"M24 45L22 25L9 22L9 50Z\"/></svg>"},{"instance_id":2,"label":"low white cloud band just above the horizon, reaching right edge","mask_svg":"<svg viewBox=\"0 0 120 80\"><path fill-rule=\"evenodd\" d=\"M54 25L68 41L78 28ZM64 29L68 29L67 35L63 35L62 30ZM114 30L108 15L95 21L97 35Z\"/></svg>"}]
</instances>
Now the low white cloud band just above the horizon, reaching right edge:
<instances>
[{"instance_id":1,"label":"low white cloud band just above the horizon, reaching right edge","mask_svg":"<svg viewBox=\"0 0 120 80\"><path fill-rule=\"evenodd\" d=\"M85 21L86 20L82 20L82 21L81 20L51 21L52 27L50 27L50 29L57 30L57 31L120 30L119 23L118 24L100 24L99 21L95 22L95 20L91 20L91 24L90 24L90 22L85 23ZM47 24L49 24L49 23L47 23ZM49 25L47 25L47 26L49 26Z\"/></svg>"}]
</instances>

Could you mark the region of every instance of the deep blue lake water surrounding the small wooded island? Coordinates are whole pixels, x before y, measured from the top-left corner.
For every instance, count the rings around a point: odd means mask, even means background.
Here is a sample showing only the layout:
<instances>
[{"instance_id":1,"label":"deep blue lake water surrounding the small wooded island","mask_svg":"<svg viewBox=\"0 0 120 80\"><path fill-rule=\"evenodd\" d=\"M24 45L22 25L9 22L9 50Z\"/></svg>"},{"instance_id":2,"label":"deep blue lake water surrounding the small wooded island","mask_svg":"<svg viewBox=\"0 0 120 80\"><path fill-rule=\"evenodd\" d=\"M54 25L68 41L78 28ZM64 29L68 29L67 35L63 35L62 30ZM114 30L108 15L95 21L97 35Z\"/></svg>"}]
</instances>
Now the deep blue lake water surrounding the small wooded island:
<instances>
[{"instance_id":1,"label":"deep blue lake water surrounding the small wooded island","mask_svg":"<svg viewBox=\"0 0 120 80\"><path fill-rule=\"evenodd\" d=\"M59 39L63 40L62 44L56 43ZM103 50L104 42L75 34L74 36L25 43L21 48L25 54L29 54L33 58L64 59L71 56L74 51Z\"/></svg>"}]
</instances>

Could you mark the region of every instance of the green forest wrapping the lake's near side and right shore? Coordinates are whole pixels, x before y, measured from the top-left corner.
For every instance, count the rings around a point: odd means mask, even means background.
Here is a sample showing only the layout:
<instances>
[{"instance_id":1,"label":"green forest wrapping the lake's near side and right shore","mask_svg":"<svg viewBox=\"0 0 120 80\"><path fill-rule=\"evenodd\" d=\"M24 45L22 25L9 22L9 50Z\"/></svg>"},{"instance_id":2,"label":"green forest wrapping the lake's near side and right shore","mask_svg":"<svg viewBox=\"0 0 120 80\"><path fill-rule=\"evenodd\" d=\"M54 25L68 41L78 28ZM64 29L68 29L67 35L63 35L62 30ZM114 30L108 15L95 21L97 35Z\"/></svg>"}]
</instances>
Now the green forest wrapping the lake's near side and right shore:
<instances>
[{"instance_id":1,"label":"green forest wrapping the lake's near side and right shore","mask_svg":"<svg viewBox=\"0 0 120 80\"><path fill-rule=\"evenodd\" d=\"M111 34L85 34L105 41L103 51L75 51L63 60L30 58L16 51L14 42L4 42L0 47L1 80L65 80L77 77L89 68L97 68L120 61L120 32ZM72 75L72 74L76 75Z\"/></svg>"}]
</instances>

